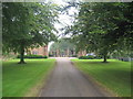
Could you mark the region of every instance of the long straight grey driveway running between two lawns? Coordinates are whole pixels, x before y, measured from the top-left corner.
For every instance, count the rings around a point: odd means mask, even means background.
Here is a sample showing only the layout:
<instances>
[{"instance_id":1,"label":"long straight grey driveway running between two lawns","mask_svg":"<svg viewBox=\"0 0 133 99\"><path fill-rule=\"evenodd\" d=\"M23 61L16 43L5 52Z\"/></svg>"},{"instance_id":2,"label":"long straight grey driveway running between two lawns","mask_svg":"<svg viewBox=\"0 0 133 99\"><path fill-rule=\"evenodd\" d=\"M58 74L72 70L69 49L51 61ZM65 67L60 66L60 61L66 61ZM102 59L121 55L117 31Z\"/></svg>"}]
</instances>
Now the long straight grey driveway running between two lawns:
<instances>
[{"instance_id":1,"label":"long straight grey driveway running between two lawns","mask_svg":"<svg viewBox=\"0 0 133 99\"><path fill-rule=\"evenodd\" d=\"M71 64L69 57L55 59L57 66L42 88L40 97L110 97L110 94L82 75Z\"/></svg>"}]
</instances>

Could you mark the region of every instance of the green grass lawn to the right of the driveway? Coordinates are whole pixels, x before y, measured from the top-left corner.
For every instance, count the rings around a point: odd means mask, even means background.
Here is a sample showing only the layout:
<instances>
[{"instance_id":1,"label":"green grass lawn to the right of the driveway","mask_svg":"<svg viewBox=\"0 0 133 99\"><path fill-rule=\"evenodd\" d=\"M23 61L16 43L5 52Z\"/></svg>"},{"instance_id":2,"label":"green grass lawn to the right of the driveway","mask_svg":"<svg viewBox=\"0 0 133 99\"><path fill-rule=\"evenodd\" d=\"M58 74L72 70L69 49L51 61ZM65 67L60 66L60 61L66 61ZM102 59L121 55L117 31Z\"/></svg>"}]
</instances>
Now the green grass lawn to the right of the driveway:
<instances>
[{"instance_id":1,"label":"green grass lawn to the right of the driveway","mask_svg":"<svg viewBox=\"0 0 133 99\"><path fill-rule=\"evenodd\" d=\"M72 59L75 66L119 97L131 96L131 63L109 59Z\"/></svg>"}]
</instances>

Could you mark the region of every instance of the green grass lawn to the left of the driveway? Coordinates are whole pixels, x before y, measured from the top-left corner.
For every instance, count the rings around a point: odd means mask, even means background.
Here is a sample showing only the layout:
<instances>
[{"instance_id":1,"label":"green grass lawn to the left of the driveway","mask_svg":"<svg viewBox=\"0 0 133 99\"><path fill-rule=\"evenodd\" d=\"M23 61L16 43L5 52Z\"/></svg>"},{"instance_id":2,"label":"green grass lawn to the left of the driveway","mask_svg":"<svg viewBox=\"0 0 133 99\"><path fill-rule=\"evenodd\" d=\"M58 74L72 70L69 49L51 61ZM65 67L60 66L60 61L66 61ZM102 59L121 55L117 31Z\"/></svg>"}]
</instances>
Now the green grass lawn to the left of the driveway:
<instances>
[{"instance_id":1,"label":"green grass lawn to the left of the driveway","mask_svg":"<svg viewBox=\"0 0 133 99\"><path fill-rule=\"evenodd\" d=\"M3 97L35 96L48 74L54 67L54 59L25 59L27 64L17 64L19 59L3 62ZM34 94L35 92L35 94ZM31 94L31 95L30 95Z\"/></svg>"}]
</instances>

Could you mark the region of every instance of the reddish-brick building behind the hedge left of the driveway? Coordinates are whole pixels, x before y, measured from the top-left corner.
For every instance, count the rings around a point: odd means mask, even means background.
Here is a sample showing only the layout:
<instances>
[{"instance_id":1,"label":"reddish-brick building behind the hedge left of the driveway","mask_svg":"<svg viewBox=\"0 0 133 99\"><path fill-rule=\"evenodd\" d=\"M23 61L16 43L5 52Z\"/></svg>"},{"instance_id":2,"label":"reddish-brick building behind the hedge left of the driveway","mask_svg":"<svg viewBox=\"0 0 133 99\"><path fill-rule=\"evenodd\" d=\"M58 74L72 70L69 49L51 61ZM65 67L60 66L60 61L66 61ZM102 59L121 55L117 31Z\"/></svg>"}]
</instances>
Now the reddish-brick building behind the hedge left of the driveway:
<instances>
[{"instance_id":1,"label":"reddish-brick building behind the hedge left of the driveway","mask_svg":"<svg viewBox=\"0 0 133 99\"><path fill-rule=\"evenodd\" d=\"M40 47L38 47L38 48L30 50L30 54L49 56L48 45L45 45L45 46L40 46Z\"/></svg>"}]
</instances>

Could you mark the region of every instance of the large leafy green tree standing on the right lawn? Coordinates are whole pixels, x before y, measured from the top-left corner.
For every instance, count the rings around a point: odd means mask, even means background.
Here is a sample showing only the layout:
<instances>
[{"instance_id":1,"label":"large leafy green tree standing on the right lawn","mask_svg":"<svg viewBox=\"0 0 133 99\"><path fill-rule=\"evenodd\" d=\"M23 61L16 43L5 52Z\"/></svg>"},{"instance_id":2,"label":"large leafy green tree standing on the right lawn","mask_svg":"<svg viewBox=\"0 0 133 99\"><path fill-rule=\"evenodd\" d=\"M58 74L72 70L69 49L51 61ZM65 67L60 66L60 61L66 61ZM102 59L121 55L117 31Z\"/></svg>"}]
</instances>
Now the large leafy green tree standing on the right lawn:
<instances>
[{"instance_id":1,"label":"large leafy green tree standing on the right lawn","mask_svg":"<svg viewBox=\"0 0 133 99\"><path fill-rule=\"evenodd\" d=\"M73 34L80 48L102 55L105 63L108 54L119 50L120 44L132 46L132 3L84 2L68 33Z\"/></svg>"}]
</instances>

